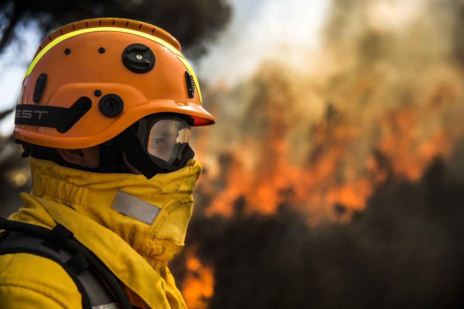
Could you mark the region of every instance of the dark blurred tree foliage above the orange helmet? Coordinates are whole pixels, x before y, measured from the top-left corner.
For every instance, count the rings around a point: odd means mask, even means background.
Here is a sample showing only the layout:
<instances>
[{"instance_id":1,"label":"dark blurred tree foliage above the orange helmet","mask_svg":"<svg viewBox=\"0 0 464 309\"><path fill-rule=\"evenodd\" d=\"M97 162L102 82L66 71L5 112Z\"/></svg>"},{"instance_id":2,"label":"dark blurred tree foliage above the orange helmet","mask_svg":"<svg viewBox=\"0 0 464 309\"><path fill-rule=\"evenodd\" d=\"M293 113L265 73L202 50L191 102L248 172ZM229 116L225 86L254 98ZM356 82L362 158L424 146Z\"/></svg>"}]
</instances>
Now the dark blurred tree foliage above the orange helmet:
<instances>
[{"instance_id":1,"label":"dark blurred tree foliage above the orange helmet","mask_svg":"<svg viewBox=\"0 0 464 309\"><path fill-rule=\"evenodd\" d=\"M101 17L135 19L170 32L187 57L206 52L206 42L224 29L231 16L225 0L6 0L0 1L0 52L23 32L17 29L30 21L45 37L71 22Z\"/></svg>"}]
</instances>

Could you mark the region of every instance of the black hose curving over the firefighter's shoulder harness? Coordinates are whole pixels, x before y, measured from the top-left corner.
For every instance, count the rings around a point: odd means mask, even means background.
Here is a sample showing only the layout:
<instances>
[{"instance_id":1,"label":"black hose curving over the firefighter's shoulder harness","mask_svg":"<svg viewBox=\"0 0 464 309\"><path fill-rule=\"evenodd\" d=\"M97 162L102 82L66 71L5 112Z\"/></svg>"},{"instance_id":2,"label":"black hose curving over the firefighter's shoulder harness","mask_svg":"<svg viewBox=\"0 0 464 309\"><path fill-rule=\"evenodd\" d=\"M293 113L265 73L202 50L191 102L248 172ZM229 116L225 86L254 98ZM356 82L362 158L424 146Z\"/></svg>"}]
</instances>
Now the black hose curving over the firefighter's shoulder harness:
<instances>
[{"instance_id":1,"label":"black hose curving over the firefighter's shoulder harness","mask_svg":"<svg viewBox=\"0 0 464 309\"><path fill-rule=\"evenodd\" d=\"M50 229L46 227L39 227L25 222L0 220L0 230L17 231L31 236L45 239L50 233ZM63 247L70 252L81 252L89 265L97 272L103 279L108 288L116 297L117 302L121 309L132 309L129 298L122 289L116 276L108 269L108 267L94 255L88 248L77 243L75 240L66 238ZM66 266L67 267L67 266Z\"/></svg>"}]
</instances>

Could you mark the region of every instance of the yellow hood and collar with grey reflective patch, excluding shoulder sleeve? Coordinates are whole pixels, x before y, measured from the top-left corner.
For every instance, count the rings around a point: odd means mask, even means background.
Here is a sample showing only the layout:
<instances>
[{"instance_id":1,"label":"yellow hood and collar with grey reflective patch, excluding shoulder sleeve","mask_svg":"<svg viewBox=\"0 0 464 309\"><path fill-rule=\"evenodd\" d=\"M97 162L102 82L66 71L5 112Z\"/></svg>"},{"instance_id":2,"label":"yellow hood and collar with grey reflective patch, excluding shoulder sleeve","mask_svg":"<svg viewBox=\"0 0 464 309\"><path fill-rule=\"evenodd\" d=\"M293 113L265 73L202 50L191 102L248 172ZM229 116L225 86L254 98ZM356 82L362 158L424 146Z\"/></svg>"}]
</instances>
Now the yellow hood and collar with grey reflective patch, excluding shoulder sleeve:
<instances>
[{"instance_id":1,"label":"yellow hood and collar with grey reflective patch, excluding shoulder sleeve","mask_svg":"<svg viewBox=\"0 0 464 309\"><path fill-rule=\"evenodd\" d=\"M149 180L31 157L29 163L32 193L19 195L25 206L9 219L44 227L62 224L148 306L185 308L166 265L184 246L201 172L198 161Z\"/></svg>"}]
</instances>

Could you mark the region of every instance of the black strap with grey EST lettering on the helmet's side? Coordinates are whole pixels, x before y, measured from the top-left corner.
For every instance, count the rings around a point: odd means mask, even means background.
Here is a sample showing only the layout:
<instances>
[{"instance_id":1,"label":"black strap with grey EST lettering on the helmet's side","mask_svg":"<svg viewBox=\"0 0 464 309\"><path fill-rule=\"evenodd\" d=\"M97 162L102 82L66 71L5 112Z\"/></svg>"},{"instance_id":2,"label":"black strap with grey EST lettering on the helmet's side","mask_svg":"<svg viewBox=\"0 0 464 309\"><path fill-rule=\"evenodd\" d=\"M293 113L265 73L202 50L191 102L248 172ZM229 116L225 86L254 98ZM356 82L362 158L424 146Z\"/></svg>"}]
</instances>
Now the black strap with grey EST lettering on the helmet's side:
<instances>
[{"instance_id":1,"label":"black strap with grey EST lettering on the helmet's side","mask_svg":"<svg viewBox=\"0 0 464 309\"><path fill-rule=\"evenodd\" d=\"M19 104L16 105L14 124L69 130L86 112L66 107Z\"/></svg>"}]
</instances>

